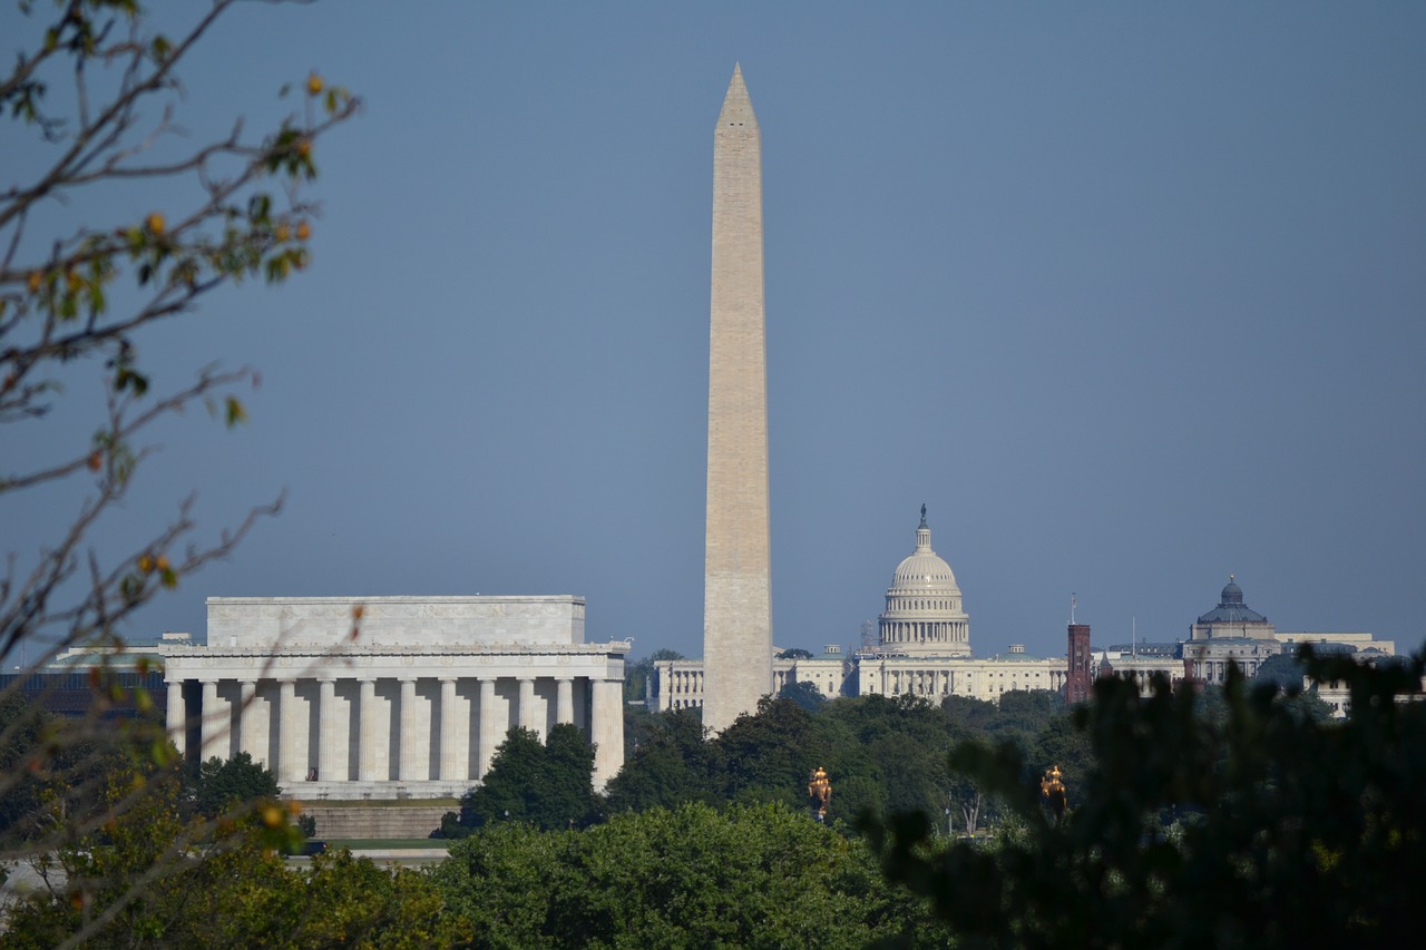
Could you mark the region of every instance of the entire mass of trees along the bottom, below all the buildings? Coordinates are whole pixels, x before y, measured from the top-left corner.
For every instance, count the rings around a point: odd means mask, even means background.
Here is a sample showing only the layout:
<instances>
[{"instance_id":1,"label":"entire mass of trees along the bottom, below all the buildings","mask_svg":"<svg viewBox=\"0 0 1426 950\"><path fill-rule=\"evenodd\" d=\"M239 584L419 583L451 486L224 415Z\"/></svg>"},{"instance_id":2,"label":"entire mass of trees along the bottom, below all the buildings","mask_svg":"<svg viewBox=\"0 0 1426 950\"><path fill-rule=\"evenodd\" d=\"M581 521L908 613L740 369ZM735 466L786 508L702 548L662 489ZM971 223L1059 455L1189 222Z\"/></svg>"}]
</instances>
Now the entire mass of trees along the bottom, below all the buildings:
<instances>
[{"instance_id":1,"label":"entire mass of trees along the bottom, below all the buildings","mask_svg":"<svg viewBox=\"0 0 1426 950\"><path fill-rule=\"evenodd\" d=\"M579 730L512 730L431 873L295 867L284 809L237 800L271 793L260 767L194 777L116 747L104 807L141 797L43 856L0 924L19 947L1375 946L1426 879L1426 703L1403 702L1426 660L1305 669L1349 685L1352 719L1236 675L1101 680L1075 710L781 698L713 740L652 716L607 797ZM816 765L838 787L829 824L804 797ZM977 802L998 813L971 839Z\"/></svg>"}]
</instances>

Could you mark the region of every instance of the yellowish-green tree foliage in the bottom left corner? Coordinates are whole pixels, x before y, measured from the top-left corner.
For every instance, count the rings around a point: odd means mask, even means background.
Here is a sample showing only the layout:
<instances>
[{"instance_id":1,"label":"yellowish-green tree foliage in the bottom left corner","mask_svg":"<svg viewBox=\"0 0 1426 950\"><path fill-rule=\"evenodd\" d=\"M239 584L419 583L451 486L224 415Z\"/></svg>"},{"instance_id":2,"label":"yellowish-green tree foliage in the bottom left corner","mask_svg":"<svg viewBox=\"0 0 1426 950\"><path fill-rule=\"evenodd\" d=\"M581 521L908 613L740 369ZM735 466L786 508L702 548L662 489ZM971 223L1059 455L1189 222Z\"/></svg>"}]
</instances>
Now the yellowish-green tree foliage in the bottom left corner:
<instances>
[{"instance_id":1,"label":"yellowish-green tree foliage in the bottom left corner","mask_svg":"<svg viewBox=\"0 0 1426 950\"><path fill-rule=\"evenodd\" d=\"M175 767L121 767L106 800L145 787L98 830L40 859L41 886L0 917L7 947L429 947L469 940L422 873L347 852L292 870L274 803L214 824L185 822ZM58 873L57 873L58 872Z\"/></svg>"}]
</instances>

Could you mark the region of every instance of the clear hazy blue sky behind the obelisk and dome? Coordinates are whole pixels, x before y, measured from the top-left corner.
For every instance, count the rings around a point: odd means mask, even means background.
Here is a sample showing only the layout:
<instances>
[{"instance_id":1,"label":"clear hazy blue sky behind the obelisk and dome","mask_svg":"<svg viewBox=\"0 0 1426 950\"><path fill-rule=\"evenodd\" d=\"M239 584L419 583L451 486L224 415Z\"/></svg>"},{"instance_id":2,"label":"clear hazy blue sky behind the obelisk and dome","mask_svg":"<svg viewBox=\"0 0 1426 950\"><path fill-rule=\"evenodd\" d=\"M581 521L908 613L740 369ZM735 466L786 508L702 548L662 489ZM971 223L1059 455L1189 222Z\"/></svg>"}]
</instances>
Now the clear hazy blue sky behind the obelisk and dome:
<instances>
[{"instance_id":1,"label":"clear hazy blue sky behind the obelisk and dome","mask_svg":"<svg viewBox=\"0 0 1426 950\"><path fill-rule=\"evenodd\" d=\"M167 4L191 16L191 4ZM33 24L0 13L0 53ZM1426 6L341 3L238 9L197 140L317 68L314 265L140 341L261 369L164 445L117 549L287 489L210 595L578 593L702 650L713 126L763 133L774 639L850 645L924 502L977 655L1186 636L1229 572L1286 630L1426 616ZM36 158L7 123L0 187ZM88 195L111 227L165 195ZM87 439L74 389L4 469ZM68 516L0 505L24 556Z\"/></svg>"}]
</instances>

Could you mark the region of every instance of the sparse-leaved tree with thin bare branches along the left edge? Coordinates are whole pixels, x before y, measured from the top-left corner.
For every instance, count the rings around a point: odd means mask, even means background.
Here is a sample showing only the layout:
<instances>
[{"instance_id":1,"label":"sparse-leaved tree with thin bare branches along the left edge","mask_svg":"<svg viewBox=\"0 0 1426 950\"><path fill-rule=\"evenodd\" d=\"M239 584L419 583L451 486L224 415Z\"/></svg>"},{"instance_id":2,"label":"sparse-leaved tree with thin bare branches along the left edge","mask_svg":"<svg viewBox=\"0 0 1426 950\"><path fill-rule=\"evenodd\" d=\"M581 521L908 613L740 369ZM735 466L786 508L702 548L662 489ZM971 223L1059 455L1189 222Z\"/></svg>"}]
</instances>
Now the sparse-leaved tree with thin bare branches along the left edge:
<instances>
[{"instance_id":1,"label":"sparse-leaved tree with thin bare branches along the left edge","mask_svg":"<svg viewBox=\"0 0 1426 950\"><path fill-rule=\"evenodd\" d=\"M177 31L134 0L20 3L33 29L7 37L27 46L0 73L0 121L13 133L0 173L0 425L14 445L46 419L70 425L84 417L96 394L93 405L101 407L61 454L11 452L0 471L0 505L68 512L57 516L50 538L6 535L0 660L7 668L21 643L30 670L70 646L123 645L135 611L228 555L255 519L278 508L255 508L234 529L205 539L195 532L191 499L164 514L133 505L125 518L147 528L125 548L100 549L94 541L118 508L135 501L131 489L158 421L194 404L230 427L244 421L237 387L255 382L252 371L205 368L187 384L160 385L178 374L173 367L155 372L144 345L224 287L248 278L277 284L307 267L315 210L304 185L317 175L317 144L358 108L349 93L312 73L297 88L294 113L265 134L245 133L238 120L225 137L180 144L180 70L202 54L235 3L171 13L185 20ZM26 161L14 145L21 137L33 143ZM29 161L31 154L39 160ZM100 193L150 210L98 220L87 210ZM64 412L54 412L60 407ZM23 679L14 678L9 696ZM167 775L174 753L155 716L106 717L117 689L97 673L93 713L31 735L27 749L13 747L29 735L23 717L6 726L0 747L10 750L10 767L0 775L0 797L39 776L47 789L43 820L29 827L46 833L9 839L0 863L54 853L141 807L144 787L110 797L106 817L83 812L104 800L110 770L100 766L117 746L158 769L137 772L144 782ZM143 690L130 700L140 713L153 712ZM135 900L128 883L87 893ZM86 939L108 913L88 907L71 939Z\"/></svg>"}]
</instances>

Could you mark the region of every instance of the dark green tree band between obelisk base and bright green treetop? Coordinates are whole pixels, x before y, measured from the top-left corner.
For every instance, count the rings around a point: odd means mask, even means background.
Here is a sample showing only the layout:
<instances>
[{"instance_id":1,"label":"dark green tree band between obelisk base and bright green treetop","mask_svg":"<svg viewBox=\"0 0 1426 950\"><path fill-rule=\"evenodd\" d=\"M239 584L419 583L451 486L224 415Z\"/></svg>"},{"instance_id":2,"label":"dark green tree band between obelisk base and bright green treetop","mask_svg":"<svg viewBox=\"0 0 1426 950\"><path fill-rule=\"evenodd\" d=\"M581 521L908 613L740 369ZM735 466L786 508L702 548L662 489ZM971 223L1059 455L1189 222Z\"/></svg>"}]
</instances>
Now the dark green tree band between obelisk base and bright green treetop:
<instances>
[{"instance_id":1,"label":"dark green tree band between obelisk base and bright green treetop","mask_svg":"<svg viewBox=\"0 0 1426 950\"><path fill-rule=\"evenodd\" d=\"M515 820L542 829L586 827L607 816L704 803L777 803L807 807L807 777L831 775L827 820L863 812L925 812L961 832L994 809L948 767L957 742L1011 745L1027 767L1058 765L1071 787L1088 746L1062 700L1048 692L1005 693L1000 706L953 698L944 708L915 696L863 696L804 702L789 690L767 699L720 736L706 739L697 710L637 715L632 755L605 797L588 790L593 753L573 727L556 726L546 743L512 729L491 773L451 814L443 833ZM974 829L971 829L974 830Z\"/></svg>"}]
</instances>

